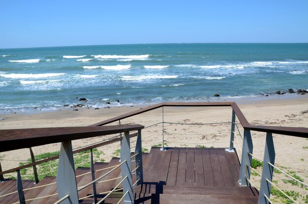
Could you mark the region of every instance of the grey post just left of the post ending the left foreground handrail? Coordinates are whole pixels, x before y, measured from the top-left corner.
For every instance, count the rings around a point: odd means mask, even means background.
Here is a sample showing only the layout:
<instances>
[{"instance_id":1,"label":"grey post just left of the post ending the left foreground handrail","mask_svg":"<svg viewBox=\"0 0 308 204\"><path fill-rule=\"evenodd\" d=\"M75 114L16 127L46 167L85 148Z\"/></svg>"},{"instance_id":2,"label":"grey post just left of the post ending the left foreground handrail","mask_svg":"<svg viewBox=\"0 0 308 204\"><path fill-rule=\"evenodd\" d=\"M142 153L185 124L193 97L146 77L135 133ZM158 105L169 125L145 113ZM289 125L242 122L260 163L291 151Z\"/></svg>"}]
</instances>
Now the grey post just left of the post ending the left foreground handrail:
<instances>
[{"instance_id":1,"label":"grey post just left of the post ending the left foreground handrail","mask_svg":"<svg viewBox=\"0 0 308 204\"><path fill-rule=\"evenodd\" d=\"M126 162L121 166L122 179L127 176L127 179L123 181L123 192L128 191L128 193L124 196L124 204L133 204L134 196L131 175L129 132L124 133L121 144L120 157L121 161L126 160Z\"/></svg>"}]
</instances>

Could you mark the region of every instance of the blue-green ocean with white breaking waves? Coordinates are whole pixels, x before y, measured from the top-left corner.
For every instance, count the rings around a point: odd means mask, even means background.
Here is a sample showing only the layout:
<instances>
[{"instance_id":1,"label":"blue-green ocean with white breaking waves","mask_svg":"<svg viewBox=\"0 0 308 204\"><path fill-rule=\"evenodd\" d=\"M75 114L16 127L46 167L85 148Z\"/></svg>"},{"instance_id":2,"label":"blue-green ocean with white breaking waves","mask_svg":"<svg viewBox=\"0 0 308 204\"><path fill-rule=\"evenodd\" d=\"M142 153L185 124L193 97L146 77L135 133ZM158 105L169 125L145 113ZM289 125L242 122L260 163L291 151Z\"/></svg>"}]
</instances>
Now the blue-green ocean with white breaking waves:
<instances>
[{"instance_id":1,"label":"blue-green ocean with white breaking waves","mask_svg":"<svg viewBox=\"0 0 308 204\"><path fill-rule=\"evenodd\" d=\"M4 112L232 100L289 88L308 88L308 43L0 49Z\"/></svg>"}]
</instances>

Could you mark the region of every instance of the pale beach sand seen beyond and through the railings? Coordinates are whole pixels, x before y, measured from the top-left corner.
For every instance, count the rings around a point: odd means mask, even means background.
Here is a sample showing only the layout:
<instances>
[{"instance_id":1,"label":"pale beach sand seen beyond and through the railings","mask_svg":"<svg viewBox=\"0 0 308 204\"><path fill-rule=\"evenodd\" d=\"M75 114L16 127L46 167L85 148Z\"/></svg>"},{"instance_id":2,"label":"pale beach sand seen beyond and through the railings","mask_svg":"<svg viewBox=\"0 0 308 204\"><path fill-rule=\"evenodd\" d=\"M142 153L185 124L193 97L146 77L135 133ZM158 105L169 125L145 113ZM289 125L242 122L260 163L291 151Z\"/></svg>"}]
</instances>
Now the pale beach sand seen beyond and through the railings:
<instances>
[{"instance_id":1,"label":"pale beach sand seen beyond and through the railings","mask_svg":"<svg viewBox=\"0 0 308 204\"><path fill-rule=\"evenodd\" d=\"M213 100L212 100L213 101ZM216 100L214 100L216 101ZM238 106L248 122L252 125L308 127L308 114L301 111L308 110L308 95L255 97L249 99L237 99ZM0 121L0 129L31 128L31 127L62 127L62 126L87 126L105 119L116 117L131 111L139 110L144 106L135 107L111 107L110 109L79 109L72 111L66 109L54 112L32 112L0 115L4 120ZM232 110L230 107L165 107L164 122L177 122L186 124L164 124L164 139L167 146L203 145L207 147L228 147L230 140L230 122ZM121 124L138 123L145 126L162 121L162 109L156 109L138 116L121 120ZM113 123L118 124L118 123ZM239 130L236 130L234 141L238 154L241 155L243 128L237 119ZM151 144L162 141L162 125L157 124L142 131L143 146L150 149ZM220 133L218 133L220 132ZM176 133L176 134L175 134ZM154 134L154 135L153 135ZM153 136L150 136L153 135ZM251 132L253 141L253 154L263 159L266 133ZM149 137L146 137L149 136ZM274 134L276 161L278 166L283 166L296 171L298 175L308 181L308 139ZM73 141L73 148L89 145L107 139L106 136ZM132 145L134 146L134 140ZM117 144L116 144L117 145ZM103 146L104 155L111 155L118 146L111 144ZM34 154L59 150L59 144L33 147ZM133 151L133 150L132 150ZM2 170L18 166L19 161L30 158L29 149L19 149L10 152L1 152L4 156L1 161ZM111 157L109 157L111 158ZM108 158L106 158L108 162ZM260 172L260 171L259 171ZM282 175L277 175L282 176ZM281 178L283 179L283 178ZM256 178L258 180L258 178ZM284 185L284 183L280 183ZM294 188L293 186L287 187ZM297 190L301 192L300 190ZM307 191L303 190L302 194Z\"/></svg>"}]
</instances>

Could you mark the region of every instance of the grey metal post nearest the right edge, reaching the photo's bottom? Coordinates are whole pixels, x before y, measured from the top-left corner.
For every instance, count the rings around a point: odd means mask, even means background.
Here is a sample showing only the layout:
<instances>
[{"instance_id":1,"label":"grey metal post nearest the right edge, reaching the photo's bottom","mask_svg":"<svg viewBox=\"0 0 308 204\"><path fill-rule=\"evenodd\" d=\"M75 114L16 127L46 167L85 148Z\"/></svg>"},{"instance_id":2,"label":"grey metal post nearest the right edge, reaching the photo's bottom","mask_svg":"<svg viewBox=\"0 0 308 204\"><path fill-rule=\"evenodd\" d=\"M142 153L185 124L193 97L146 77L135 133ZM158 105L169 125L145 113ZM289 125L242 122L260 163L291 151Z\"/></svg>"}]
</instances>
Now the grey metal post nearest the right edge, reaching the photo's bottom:
<instances>
[{"instance_id":1,"label":"grey metal post nearest the right edge, reaching the photo's bottom","mask_svg":"<svg viewBox=\"0 0 308 204\"><path fill-rule=\"evenodd\" d=\"M264 195L270 198L272 184L269 183L266 179L272 182L274 167L269 165L269 163L273 165L275 164L275 156L276 154L272 133L267 133L258 204L269 204L269 201L265 198Z\"/></svg>"}]
</instances>

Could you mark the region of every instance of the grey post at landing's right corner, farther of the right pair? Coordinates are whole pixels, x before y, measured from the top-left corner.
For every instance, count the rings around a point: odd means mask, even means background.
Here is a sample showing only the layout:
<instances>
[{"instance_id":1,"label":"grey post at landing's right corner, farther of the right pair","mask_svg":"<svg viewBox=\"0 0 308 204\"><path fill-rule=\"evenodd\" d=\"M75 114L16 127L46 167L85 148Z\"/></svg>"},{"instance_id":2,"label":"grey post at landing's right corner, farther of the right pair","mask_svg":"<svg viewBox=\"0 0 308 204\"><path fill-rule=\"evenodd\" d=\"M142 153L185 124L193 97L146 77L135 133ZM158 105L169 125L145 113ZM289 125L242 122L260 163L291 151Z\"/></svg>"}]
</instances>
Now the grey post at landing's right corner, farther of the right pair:
<instances>
[{"instance_id":1,"label":"grey post at landing's right corner, farther of the right pair","mask_svg":"<svg viewBox=\"0 0 308 204\"><path fill-rule=\"evenodd\" d=\"M253 145L251 140L250 130L244 130L244 140L243 140L243 148L242 148L242 163L240 170L240 178L239 184L241 186L247 186L246 178L250 179L250 169L251 166L251 155L252 154Z\"/></svg>"}]
</instances>

